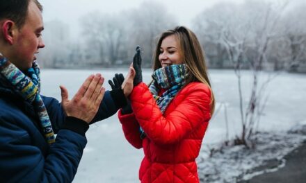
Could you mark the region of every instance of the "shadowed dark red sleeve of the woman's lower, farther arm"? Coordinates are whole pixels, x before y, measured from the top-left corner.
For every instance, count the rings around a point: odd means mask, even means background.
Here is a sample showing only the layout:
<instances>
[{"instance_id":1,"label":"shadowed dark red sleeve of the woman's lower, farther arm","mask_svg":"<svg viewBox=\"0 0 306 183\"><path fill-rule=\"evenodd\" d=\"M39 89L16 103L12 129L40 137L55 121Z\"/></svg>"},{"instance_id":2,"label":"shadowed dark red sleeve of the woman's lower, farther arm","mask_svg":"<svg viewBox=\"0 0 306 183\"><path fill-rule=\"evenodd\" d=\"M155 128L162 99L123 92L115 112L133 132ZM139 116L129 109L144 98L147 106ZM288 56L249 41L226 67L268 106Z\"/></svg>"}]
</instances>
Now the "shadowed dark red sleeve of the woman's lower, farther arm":
<instances>
[{"instance_id":1,"label":"shadowed dark red sleeve of the woman's lower, farther arm","mask_svg":"<svg viewBox=\"0 0 306 183\"><path fill-rule=\"evenodd\" d=\"M139 124L135 118L134 113L122 114L122 110L118 112L119 121L122 124L124 137L135 148L143 147L143 140L140 139Z\"/></svg>"}]
</instances>

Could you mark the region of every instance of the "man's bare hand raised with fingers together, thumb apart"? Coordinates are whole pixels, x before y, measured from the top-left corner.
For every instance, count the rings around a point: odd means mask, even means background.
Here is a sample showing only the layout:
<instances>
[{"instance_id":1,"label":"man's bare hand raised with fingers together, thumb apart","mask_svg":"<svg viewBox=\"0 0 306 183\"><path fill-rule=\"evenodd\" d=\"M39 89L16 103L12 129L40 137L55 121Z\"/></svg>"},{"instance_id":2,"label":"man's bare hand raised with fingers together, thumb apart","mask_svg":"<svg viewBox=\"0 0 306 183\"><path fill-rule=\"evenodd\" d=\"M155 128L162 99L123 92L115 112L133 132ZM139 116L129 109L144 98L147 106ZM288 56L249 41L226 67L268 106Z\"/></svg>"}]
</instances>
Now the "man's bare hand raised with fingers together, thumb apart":
<instances>
[{"instance_id":1,"label":"man's bare hand raised with fingers together, thumb apart","mask_svg":"<svg viewBox=\"0 0 306 183\"><path fill-rule=\"evenodd\" d=\"M90 123L99 109L103 99L105 88L102 87L104 78L97 73L95 76L90 75L83 85L79 88L77 94L71 101L68 100L68 91L65 87L60 86L62 105L67 116L73 116Z\"/></svg>"}]
</instances>

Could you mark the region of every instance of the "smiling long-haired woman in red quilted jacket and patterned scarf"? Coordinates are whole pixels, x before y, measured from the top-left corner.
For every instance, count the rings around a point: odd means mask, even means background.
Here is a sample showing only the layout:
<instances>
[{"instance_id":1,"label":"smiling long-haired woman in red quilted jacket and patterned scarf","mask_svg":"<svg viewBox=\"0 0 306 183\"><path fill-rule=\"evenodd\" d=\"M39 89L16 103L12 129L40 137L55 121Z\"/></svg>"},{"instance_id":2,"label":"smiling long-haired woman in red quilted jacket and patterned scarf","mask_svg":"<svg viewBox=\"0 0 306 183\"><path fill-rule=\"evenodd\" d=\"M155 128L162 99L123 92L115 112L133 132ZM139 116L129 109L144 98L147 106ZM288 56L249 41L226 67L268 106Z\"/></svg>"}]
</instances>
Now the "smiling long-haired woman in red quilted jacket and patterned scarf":
<instances>
[{"instance_id":1,"label":"smiling long-haired woman in red quilted jacket and patterned scarf","mask_svg":"<svg viewBox=\"0 0 306 183\"><path fill-rule=\"evenodd\" d=\"M118 116L129 143L144 150L141 182L199 182L195 158L215 101L197 37L184 26L161 34L149 87L137 60L139 49L129 95L132 113L125 107Z\"/></svg>"}]
</instances>

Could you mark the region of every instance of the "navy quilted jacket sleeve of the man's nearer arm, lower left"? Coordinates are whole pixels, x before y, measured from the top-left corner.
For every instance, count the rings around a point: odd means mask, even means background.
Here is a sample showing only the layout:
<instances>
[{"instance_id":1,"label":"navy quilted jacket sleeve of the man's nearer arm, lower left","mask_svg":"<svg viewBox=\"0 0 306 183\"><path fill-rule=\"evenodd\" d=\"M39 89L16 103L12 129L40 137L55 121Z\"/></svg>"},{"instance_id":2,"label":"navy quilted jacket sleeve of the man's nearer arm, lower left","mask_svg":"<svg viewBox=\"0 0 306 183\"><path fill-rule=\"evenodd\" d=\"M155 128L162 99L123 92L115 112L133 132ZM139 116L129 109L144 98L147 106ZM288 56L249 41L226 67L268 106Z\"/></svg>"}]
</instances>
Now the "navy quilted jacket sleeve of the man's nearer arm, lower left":
<instances>
[{"instance_id":1,"label":"navy quilted jacket sleeve of the man's nearer arm, lower left","mask_svg":"<svg viewBox=\"0 0 306 183\"><path fill-rule=\"evenodd\" d=\"M19 116L6 116L0 115L0 182L72 182L86 137L71 130L59 130L45 157L42 149L33 146L45 139L33 140L29 127L24 125L31 121L24 118L22 123Z\"/></svg>"}]
</instances>

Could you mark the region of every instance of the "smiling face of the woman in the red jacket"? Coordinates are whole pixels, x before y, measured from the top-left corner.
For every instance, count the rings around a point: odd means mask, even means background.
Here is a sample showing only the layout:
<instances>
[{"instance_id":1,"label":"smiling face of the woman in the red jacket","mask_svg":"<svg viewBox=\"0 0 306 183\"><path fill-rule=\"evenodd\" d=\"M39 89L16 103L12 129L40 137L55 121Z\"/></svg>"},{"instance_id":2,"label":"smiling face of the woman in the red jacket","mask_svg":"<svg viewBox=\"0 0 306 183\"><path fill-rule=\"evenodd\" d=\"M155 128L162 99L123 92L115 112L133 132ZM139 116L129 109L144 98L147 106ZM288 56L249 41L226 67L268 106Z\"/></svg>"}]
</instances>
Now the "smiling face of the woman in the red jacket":
<instances>
[{"instance_id":1,"label":"smiling face of the woman in the red jacket","mask_svg":"<svg viewBox=\"0 0 306 183\"><path fill-rule=\"evenodd\" d=\"M172 64L182 64L182 51L179 48L179 42L175 35L165 37L161 42L159 51L159 62L161 62L161 67L167 67Z\"/></svg>"}]
</instances>

